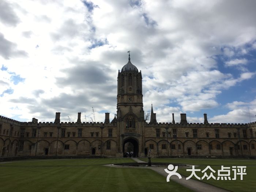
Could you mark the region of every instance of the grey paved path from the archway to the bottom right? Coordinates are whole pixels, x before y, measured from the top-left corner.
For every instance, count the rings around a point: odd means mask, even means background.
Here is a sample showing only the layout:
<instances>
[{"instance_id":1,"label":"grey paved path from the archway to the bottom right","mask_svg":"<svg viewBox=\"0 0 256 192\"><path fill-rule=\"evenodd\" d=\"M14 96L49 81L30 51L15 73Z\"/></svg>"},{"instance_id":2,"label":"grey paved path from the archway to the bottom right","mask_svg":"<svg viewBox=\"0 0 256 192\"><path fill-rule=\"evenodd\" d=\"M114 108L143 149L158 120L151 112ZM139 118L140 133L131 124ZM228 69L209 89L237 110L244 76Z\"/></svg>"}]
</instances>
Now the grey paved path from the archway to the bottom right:
<instances>
[{"instance_id":1,"label":"grey paved path from the archway to the bottom right","mask_svg":"<svg viewBox=\"0 0 256 192\"><path fill-rule=\"evenodd\" d=\"M138 163L145 163L145 161L142 161L138 158L132 158L134 161L138 162ZM152 169L155 172L161 174L162 176L167 177L167 173L165 172L165 168L164 167L147 167L148 169ZM177 182L178 184L183 185L184 187L187 187L193 191L196 192L206 192L206 191L211 191L211 192L229 192L225 189L219 188L219 187L215 187L214 185L210 185L201 181L197 181L195 179L189 179L186 180L186 177L181 175L181 179L179 179L176 176L172 176L170 177L170 180Z\"/></svg>"}]
</instances>

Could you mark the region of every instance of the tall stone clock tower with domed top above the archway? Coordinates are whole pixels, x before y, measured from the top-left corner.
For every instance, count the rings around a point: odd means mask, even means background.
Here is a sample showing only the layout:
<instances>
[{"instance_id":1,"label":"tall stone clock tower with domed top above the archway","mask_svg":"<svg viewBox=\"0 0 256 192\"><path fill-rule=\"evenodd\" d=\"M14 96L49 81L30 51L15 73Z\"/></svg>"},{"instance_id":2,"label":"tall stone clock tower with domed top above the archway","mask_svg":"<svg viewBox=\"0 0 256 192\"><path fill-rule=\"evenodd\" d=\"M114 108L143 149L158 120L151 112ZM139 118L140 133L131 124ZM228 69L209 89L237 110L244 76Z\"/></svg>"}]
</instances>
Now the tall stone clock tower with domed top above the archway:
<instances>
[{"instance_id":1,"label":"tall stone clock tower with domed top above the archway","mask_svg":"<svg viewBox=\"0 0 256 192\"><path fill-rule=\"evenodd\" d=\"M142 95L142 73L131 63L124 65L117 76L117 134L118 153L123 155L124 144L130 142L134 146L136 156L144 153L142 133L144 127L144 110Z\"/></svg>"}]
</instances>

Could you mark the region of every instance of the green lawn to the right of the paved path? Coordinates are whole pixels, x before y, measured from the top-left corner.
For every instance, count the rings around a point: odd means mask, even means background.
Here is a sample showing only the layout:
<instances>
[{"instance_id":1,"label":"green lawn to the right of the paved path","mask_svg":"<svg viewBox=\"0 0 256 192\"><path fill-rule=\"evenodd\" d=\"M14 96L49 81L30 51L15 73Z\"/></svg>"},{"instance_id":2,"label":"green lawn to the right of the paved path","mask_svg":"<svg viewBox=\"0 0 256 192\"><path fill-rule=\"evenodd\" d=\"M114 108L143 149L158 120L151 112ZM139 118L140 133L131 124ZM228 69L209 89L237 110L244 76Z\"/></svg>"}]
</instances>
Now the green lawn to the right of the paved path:
<instances>
[{"instance_id":1,"label":"green lawn to the right of the paved path","mask_svg":"<svg viewBox=\"0 0 256 192\"><path fill-rule=\"evenodd\" d=\"M147 158L140 158L143 161L147 161ZM240 176L237 176L237 180L202 180L211 185L227 189L234 192L251 192L256 191L256 161L247 159L165 159L165 158L152 158L151 162L166 162L166 163L186 163L190 165L200 165L196 169L201 171L210 165L212 169L216 171L214 176L217 176L217 170L221 169L221 165L225 167L231 167L232 165L245 165L246 175L243 176L243 180L240 180ZM232 169L232 168L231 168ZM178 172L186 177L190 176L191 172L187 172L185 168L179 168ZM209 173L209 172L207 172ZM233 171L230 171L231 178L233 178ZM203 173L196 172L197 176L202 177ZM208 174L209 175L209 174ZM195 177L192 177L195 178ZM217 177L216 177L217 178ZM196 179L196 178L195 178Z\"/></svg>"}]
</instances>

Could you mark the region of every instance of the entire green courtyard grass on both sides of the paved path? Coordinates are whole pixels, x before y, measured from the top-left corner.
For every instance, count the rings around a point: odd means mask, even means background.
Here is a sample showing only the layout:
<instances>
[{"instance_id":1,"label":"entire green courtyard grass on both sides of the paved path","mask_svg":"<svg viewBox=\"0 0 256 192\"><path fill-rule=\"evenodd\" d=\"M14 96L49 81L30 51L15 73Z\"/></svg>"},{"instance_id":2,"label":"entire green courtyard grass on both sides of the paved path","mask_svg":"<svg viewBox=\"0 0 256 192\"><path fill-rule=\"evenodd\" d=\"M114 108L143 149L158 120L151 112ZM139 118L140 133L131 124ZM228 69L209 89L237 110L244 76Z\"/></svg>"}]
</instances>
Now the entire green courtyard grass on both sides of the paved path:
<instances>
[{"instance_id":1,"label":"entire green courtyard grass on both sides of the paved path","mask_svg":"<svg viewBox=\"0 0 256 192\"><path fill-rule=\"evenodd\" d=\"M140 158L147 161L146 158ZM192 191L148 168L104 166L113 163L135 162L133 158L102 159L47 159L0 163L0 191ZM185 163L204 169L210 165L218 170L221 165L246 166L241 181L203 180L228 191L255 191L256 161L249 159L160 159L152 162ZM162 167L165 169L167 167ZM179 168L178 173L191 172ZM197 174L201 176L200 174ZM231 175L232 176L232 175ZM202 177L202 176L201 176ZM209 189L210 190L210 189Z\"/></svg>"}]
</instances>

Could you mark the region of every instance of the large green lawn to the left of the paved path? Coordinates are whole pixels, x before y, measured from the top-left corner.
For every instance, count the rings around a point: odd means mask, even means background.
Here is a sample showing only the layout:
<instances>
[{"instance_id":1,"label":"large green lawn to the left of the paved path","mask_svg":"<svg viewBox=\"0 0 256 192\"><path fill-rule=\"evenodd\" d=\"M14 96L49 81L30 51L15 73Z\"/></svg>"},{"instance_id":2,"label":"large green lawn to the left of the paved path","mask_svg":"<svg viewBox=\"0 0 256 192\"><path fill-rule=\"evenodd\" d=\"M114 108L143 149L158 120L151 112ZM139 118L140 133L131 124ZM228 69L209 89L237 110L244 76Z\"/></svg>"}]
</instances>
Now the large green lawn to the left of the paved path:
<instances>
[{"instance_id":1,"label":"large green lawn to the left of the paved path","mask_svg":"<svg viewBox=\"0 0 256 192\"><path fill-rule=\"evenodd\" d=\"M0 191L190 191L151 169L106 167L129 158L0 163ZM60 165L60 166L58 166Z\"/></svg>"}]
</instances>

